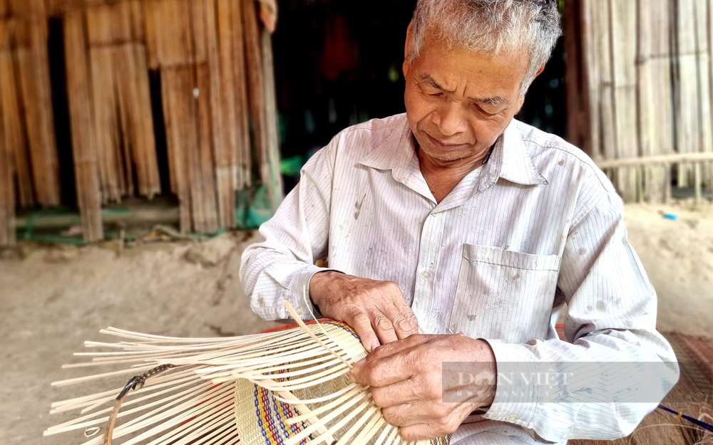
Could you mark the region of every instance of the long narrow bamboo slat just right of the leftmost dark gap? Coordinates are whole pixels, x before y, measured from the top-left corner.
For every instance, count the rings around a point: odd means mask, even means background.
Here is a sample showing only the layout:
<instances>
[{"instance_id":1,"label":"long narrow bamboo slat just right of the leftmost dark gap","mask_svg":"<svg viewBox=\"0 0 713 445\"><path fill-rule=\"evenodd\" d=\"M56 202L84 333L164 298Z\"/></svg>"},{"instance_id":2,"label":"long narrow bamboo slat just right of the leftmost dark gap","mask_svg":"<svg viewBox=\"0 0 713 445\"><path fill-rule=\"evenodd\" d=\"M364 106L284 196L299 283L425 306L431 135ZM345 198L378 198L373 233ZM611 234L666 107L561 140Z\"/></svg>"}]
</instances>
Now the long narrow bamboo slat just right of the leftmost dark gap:
<instances>
[{"instance_id":1,"label":"long narrow bamboo slat just right of the leftmost dark gap","mask_svg":"<svg viewBox=\"0 0 713 445\"><path fill-rule=\"evenodd\" d=\"M103 227L83 13L68 13L63 26L77 203L84 239L97 241L103 239Z\"/></svg>"}]
</instances>

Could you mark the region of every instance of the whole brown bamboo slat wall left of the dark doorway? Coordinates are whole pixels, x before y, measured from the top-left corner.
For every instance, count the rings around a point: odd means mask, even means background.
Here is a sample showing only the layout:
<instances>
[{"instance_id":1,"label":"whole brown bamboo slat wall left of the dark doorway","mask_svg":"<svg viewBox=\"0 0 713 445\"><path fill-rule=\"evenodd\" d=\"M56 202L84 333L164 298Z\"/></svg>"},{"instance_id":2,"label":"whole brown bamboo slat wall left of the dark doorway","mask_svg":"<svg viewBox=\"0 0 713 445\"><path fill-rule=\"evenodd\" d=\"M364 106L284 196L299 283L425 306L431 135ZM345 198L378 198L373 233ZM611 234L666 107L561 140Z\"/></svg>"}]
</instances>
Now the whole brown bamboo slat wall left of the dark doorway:
<instances>
[{"instance_id":1,"label":"whole brown bamboo slat wall left of the dark doorway","mask_svg":"<svg viewBox=\"0 0 713 445\"><path fill-rule=\"evenodd\" d=\"M16 205L60 204L49 16L62 21L86 241L103 238L101 206L125 197L172 192L186 232L234 227L235 193L253 184L266 184L277 206L275 15L270 0L0 0L0 245L14 242ZM150 73L160 79L170 191L160 185Z\"/></svg>"}]
</instances>

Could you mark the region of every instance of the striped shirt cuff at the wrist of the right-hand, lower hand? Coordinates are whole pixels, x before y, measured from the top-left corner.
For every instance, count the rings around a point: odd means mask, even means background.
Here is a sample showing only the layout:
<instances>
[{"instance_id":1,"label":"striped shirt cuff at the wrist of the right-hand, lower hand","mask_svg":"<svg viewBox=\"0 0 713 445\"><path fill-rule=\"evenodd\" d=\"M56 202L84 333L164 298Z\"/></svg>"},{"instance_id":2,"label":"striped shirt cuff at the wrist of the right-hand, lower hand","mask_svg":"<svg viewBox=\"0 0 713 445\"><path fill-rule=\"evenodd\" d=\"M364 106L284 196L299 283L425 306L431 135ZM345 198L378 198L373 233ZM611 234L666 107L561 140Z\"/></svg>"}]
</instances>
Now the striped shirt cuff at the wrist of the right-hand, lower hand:
<instances>
[{"instance_id":1,"label":"striped shirt cuff at the wrist of the right-hand, lower hand","mask_svg":"<svg viewBox=\"0 0 713 445\"><path fill-rule=\"evenodd\" d=\"M538 360L524 345L488 340L496 360L496 392L483 418L531 429L539 403Z\"/></svg>"}]
</instances>

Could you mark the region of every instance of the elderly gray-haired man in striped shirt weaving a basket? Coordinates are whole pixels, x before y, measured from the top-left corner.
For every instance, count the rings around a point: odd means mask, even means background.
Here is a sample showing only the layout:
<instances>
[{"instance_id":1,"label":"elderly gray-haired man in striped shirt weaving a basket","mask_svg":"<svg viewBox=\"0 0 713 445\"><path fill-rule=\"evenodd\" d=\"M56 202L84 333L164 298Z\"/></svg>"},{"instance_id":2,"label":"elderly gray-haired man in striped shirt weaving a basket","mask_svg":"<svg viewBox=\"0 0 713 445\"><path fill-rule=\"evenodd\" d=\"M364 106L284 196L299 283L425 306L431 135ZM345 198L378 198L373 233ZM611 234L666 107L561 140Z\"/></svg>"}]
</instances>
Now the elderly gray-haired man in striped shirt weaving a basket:
<instances>
[{"instance_id":1,"label":"elderly gray-haired man in striped shirt weaving a basket","mask_svg":"<svg viewBox=\"0 0 713 445\"><path fill-rule=\"evenodd\" d=\"M406 114L335 136L242 258L258 315L289 318L289 300L354 327L371 354L352 376L406 439L613 439L677 380L621 199L576 147L513 119L560 35L556 4L419 0ZM452 362L478 379L446 379ZM545 394L503 375L545 368L570 379Z\"/></svg>"}]
</instances>

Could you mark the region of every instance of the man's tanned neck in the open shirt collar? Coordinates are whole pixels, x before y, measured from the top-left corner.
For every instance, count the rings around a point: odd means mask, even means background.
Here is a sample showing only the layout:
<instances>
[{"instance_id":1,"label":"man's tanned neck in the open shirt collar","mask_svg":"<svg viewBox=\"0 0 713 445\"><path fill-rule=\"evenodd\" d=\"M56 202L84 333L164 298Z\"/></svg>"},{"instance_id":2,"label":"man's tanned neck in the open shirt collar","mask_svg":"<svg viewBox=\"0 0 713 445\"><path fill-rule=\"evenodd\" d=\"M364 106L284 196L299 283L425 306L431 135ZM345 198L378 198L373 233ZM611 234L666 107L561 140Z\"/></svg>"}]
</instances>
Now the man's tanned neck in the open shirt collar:
<instances>
[{"instance_id":1,"label":"man's tanned neck in the open shirt collar","mask_svg":"<svg viewBox=\"0 0 713 445\"><path fill-rule=\"evenodd\" d=\"M487 162L493 147L494 145L472 157L443 161L429 156L424 150L419 150L419 144L416 142L416 154L419 157L421 174L424 175L426 184L429 185L436 202L443 201L468 173Z\"/></svg>"}]
</instances>

